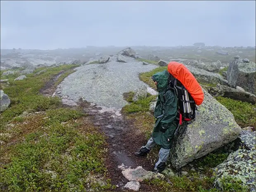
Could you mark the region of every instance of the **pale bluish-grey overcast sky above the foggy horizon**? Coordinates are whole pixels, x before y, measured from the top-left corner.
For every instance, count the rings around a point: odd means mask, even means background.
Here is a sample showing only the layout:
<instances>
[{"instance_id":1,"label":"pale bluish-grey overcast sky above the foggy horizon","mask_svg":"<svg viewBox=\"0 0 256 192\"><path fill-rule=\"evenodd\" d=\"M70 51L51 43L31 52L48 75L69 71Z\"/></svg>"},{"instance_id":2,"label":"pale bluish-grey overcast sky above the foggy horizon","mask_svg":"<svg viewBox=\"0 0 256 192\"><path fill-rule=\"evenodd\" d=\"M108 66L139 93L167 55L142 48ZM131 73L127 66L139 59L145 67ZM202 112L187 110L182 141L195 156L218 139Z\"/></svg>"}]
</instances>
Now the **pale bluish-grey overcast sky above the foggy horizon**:
<instances>
[{"instance_id":1,"label":"pale bluish-grey overcast sky above the foggy horizon","mask_svg":"<svg viewBox=\"0 0 256 192\"><path fill-rule=\"evenodd\" d=\"M1 48L255 46L251 1L1 1Z\"/></svg>"}]
</instances>

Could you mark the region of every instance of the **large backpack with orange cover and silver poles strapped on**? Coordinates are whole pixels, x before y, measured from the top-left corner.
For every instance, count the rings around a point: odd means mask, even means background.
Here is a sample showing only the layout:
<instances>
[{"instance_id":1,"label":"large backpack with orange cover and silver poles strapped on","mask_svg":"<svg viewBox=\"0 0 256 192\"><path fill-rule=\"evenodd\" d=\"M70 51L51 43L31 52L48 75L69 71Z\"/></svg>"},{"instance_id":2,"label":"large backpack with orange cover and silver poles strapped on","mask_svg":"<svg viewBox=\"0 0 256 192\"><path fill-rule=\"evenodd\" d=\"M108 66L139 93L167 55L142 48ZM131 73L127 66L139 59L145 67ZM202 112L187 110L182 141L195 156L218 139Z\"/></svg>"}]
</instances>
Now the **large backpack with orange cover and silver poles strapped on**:
<instances>
[{"instance_id":1,"label":"large backpack with orange cover and silver poles strapped on","mask_svg":"<svg viewBox=\"0 0 256 192\"><path fill-rule=\"evenodd\" d=\"M192 73L182 64L171 61L168 64L168 89L178 97L179 124L192 122L196 118L196 105L204 101L204 92Z\"/></svg>"}]
</instances>

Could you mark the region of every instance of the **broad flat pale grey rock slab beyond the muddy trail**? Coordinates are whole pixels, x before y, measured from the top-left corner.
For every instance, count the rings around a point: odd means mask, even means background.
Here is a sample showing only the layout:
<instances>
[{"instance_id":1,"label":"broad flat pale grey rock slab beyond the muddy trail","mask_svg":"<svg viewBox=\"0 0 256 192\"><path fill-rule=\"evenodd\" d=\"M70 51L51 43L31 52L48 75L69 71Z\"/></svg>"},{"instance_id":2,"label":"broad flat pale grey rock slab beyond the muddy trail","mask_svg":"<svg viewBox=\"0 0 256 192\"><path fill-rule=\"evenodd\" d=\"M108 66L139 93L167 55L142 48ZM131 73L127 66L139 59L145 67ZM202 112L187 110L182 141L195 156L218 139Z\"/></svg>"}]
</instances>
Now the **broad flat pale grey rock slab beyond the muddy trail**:
<instances>
[{"instance_id":1,"label":"broad flat pale grey rock slab beyond the muddy trail","mask_svg":"<svg viewBox=\"0 0 256 192\"><path fill-rule=\"evenodd\" d=\"M74 102L84 98L97 105L120 109L127 104L123 93L146 85L140 81L139 74L157 67L152 64L142 66L140 61L126 59L127 63L120 63L112 57L107 63L78 67L64 79L56 92L60 91L60 97L69 96Z\"/></svg>"}]
</instances>

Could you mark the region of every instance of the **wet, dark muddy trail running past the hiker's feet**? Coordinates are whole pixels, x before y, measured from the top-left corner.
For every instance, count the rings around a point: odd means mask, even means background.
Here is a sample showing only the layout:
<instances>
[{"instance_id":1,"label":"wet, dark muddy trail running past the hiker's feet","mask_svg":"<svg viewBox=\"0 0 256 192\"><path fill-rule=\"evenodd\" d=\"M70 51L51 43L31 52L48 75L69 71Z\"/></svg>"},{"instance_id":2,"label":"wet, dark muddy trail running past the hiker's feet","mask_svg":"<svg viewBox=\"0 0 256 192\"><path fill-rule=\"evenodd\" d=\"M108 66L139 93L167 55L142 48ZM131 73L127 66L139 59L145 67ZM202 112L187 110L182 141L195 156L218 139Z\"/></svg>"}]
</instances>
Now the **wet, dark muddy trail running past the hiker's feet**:
<instances>
[{"instance_id":1,"label":"wet, dark muddy trail running past the hiker's feet","mask_svg":"<svg viewBox=\"0 0 256 192\"><path fill-rule=\"evenodd\" d=\"M122 164L131 168L142 166L144 169L151 171L153 166L146 157L136 157L134 152L147 140L139 130L135 129L133 120L121 115L118 110L102 109L97 105L82 102L79 105L86 112L90 120L95 126L99 126L99 130L107 136L109 154L106 157L108 169L108 178L111 179L113 185L117 185L115 191L122 190L122 187L128 180L122 175L118 166ZM140 190L144 190L141 188Z\"/></svg>"}]
</instances>

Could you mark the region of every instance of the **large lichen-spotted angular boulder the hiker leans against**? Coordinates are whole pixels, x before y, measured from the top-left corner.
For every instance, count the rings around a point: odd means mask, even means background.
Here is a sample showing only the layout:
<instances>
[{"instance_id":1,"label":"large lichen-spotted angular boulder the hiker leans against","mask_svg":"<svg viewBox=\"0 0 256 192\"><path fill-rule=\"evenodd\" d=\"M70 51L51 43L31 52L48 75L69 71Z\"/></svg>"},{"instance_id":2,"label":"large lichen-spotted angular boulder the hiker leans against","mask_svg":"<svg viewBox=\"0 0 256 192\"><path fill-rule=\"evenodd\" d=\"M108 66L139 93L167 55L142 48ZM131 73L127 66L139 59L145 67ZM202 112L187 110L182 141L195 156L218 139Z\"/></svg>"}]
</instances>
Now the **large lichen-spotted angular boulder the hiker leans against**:
<instances>
[{"instance_id":1,"label":"large lichen-spotted angular boulder the hiker leans against","mask_svg":"<svg viewBox=\"0 0 256 192\"><path fill-rule=\"evenodd\" d=\"M175 169L230 143L242 131L232 113L203 91L204 102L198 106L196 120L175 133L171 148L171 163Z\"/></svg>"}]
</instances>

